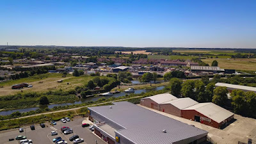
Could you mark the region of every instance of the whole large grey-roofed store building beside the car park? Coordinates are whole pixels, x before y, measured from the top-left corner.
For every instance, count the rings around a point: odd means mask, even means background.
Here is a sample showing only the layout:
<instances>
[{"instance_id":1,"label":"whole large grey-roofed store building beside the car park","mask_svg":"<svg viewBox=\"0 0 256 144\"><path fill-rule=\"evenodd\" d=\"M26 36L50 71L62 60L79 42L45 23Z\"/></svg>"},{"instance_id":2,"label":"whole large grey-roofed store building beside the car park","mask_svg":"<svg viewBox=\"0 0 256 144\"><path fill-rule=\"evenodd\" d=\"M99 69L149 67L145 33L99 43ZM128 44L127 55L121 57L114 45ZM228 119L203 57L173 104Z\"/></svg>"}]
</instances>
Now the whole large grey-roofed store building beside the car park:
<instances>
[{"instance_id":1,"label":"whole large grey-roofed store building beside the car park","mask_svg":"<svg viewBox=\"0 0 256 144\"><path fill-rule=\"evenodd\" d=\"M197 144L206 140L207 131L160 115L130 102L90 107L89 119L95 134L115 144Z\"/></svg>"}]
</instances>

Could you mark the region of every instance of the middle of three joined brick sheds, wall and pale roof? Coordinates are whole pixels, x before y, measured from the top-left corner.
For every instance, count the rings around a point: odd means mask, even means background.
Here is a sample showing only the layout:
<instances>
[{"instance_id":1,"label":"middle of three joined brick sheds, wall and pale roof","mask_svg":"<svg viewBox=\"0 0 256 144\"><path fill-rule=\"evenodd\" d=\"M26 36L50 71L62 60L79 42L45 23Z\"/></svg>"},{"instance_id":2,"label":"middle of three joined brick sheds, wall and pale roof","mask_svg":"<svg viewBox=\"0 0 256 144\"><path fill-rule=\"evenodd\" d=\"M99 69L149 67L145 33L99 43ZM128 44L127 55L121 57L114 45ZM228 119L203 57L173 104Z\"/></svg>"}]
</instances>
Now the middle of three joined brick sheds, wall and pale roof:
<instances>
[{"instance_id":1,"label":"middle of three joined brick sheds, wall and pale roof","mask_svg":"<svg viewBox=\"0 0 256 144\"><path fill-rule=\"evenodd\" d=\"M161 103L160 111L181 117L182 109L188 108L195 104L198 104L198 102L196 102L193 99L190 99L189 97L174 99L174 100L170 100L168 102Z\"/></svg>"}]
</instances>

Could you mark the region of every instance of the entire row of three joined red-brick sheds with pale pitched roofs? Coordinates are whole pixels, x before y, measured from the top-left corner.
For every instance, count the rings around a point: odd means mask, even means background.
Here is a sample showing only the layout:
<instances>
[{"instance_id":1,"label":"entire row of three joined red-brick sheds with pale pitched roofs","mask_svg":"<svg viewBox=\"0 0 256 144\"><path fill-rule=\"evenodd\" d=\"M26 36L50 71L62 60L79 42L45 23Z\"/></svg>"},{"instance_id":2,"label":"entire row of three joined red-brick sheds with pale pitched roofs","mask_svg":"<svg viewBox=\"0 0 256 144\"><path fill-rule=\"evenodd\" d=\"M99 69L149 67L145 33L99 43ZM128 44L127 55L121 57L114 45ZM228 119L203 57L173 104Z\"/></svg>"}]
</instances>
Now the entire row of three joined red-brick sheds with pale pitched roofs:
<instances>
[{"instance_id":1,"label":"entire row of three joined red-brick sheds with pale pitched roofs","mask_svg":"<svg viewBox=\"0 0 256 144\"><path fill-rule=\"evenodd\" d=\"M177 99L169 93L145 97L140 100L140 104L218 129L234 119L234 113L216 104L211 102L198 103L188 97Z\"/></svg>"}]
</instances>

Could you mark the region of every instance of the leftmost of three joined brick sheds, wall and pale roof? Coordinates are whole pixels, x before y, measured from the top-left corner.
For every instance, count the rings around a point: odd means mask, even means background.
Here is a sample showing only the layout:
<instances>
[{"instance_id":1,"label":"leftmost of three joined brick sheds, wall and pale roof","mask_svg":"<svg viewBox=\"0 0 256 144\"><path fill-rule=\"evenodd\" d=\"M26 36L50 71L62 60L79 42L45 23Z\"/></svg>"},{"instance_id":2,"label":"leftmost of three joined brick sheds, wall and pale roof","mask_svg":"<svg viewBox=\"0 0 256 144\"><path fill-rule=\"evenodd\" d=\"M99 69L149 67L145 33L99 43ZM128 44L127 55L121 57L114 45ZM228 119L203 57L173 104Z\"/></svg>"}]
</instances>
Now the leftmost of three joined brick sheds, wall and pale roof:
<instances>
[{"instance_id":1,"label":"leftmost of three joined brick sheds, wall and pale roof","mask_svg":"<svg viewBox=\"0 0 256 144\"><path fill-rule=\"evenodd\" d=\"M156 109L160 111L160 104L163 102L168 102L170 100L178 99L170 93L163 93L159 95L154 95L151 97L145 97L140 100L141 106L147 106L148 108Z\"/></svg>"}]
</instances>

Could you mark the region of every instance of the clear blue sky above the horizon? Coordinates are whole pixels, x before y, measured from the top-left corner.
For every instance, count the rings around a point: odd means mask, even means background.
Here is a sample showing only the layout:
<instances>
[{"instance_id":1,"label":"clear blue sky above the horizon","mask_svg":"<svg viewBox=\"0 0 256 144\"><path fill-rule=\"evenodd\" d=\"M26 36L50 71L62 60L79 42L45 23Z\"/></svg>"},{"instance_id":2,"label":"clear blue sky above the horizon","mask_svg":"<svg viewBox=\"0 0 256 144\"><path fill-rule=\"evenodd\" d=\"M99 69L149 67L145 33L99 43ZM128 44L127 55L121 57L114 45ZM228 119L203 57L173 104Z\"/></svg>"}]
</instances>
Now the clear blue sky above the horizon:
<instances>
[{"instance_id":1,"label":"clear blue sky above the horizon","mask_svg":"<svg viewBox=\"0 0 256 144\"><path fill-rule=\"evenodd\" d=\"M256 1L0 0L0 45L256 48Z\"/></svg>"}]
</instances>

